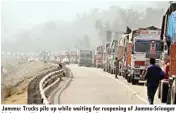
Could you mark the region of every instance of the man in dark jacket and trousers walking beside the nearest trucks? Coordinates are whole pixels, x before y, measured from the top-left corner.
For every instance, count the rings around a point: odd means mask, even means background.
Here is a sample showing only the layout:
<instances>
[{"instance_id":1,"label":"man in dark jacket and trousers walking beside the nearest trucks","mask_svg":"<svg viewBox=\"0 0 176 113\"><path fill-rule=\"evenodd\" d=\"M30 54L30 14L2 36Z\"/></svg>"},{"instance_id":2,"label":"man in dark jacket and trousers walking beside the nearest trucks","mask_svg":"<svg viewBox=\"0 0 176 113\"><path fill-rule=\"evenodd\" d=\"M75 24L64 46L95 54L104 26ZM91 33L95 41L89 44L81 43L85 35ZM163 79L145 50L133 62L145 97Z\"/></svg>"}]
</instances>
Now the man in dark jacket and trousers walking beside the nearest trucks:
<instances>
[{"instance_id":1,"label":"man in dark jacket and trousers walking beside the nearest trucks","mask_svg":"<svg viewBox=\"0 0 176 113\"><path fill-rule=\"evenodd\" d=\"M150 66L148 67L145 80L147 80L147 95L150 104L153 104L156 90L159 86L159 82L164 78L164 72L162 69L155 65L155 59L150 59Z\"/></svg>"}]
</instances>

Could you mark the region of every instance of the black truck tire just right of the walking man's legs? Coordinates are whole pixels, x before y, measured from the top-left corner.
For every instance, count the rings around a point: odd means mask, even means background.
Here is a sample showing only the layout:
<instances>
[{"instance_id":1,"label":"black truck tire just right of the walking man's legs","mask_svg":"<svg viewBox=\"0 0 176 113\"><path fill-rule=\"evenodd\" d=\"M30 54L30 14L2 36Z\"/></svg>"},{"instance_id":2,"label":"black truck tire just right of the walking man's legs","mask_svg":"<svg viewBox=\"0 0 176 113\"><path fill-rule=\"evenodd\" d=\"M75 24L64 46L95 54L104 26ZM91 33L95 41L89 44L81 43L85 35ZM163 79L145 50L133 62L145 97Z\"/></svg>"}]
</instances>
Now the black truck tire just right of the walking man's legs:
<instances>
[{"instance_id":1,"label":"black truck tire just right of the walking man's legs","mask_svg":"<svg viewBox=\"0 0 176 113\"><path fill-rule=\"evenodd\" d=\"M168 94L168 84L161 82L160 99L162 103L166 103Z\"/></svg>"}]
</instances>

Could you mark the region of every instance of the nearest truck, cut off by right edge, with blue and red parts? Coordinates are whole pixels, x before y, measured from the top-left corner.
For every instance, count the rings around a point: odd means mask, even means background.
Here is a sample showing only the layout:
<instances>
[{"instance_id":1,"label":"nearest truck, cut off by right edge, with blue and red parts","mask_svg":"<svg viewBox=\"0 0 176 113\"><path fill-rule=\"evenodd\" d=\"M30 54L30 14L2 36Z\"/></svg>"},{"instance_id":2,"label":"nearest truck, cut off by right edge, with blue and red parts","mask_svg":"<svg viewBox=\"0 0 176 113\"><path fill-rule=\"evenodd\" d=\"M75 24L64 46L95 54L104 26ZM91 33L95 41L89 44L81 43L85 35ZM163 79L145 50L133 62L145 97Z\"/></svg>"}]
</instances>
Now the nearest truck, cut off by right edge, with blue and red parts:
<instances>
[{"instance_id":1,"label":"nearest truck, cut off by right edge, with blue and red parts","mask_svg":"<svg viewBox=\"0 0 176 113\"><path fill-rule=\"evenodd\" d=\"M176 104L176 20L170 20L171 15L176 14L176 3L171 3L163 16L161 27L161 62L165 57L170 57L169 78L165 78L160 82L158 97L162 103ZM173 32L171 32L173 30ZM161 63L162 64L162 63Z\"/></svg>"}]
</instances>

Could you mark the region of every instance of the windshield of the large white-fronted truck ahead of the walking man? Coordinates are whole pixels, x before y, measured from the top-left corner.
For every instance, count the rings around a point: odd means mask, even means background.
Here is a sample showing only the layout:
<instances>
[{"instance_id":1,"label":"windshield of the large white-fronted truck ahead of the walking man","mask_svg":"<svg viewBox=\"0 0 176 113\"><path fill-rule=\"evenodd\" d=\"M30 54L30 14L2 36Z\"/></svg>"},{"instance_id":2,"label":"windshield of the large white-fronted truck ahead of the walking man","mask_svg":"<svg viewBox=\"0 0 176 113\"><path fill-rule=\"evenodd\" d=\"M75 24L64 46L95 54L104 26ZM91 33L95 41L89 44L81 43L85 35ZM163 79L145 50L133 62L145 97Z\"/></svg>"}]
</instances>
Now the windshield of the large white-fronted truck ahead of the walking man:
<instances>
[{"instance_id":1,"label":"windshield of the large white-fronted truck ahead of the walking man","mask_svg":"<svg viewBox=\"0 0 176 113\"><path fill-rule=\"evenodd\" d=\"M147 52L150 51L150 41L149 40L136 40L135 42L135 52Z\"/></svg>"}]
</instances>

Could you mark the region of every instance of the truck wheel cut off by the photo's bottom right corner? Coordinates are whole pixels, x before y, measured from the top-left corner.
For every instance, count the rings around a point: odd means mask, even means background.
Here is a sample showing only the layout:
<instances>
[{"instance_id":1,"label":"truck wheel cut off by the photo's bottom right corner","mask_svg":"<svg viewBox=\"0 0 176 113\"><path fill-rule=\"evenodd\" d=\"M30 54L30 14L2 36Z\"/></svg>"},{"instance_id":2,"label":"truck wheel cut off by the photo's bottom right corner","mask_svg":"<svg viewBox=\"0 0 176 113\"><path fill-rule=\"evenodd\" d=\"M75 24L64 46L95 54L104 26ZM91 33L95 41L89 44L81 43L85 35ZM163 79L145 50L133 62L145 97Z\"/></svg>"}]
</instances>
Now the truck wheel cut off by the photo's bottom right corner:
<instances>
[{"instance_id":1,"label":"truck wheel cut off by the photo's bottom right corner","mask_svg":"<svg viewBox=\"0 0 176 113\"><path fill-rule=\"evenodd\" d=\"M173 81L171 87L171 104L176 104L176 80Z\"/></svg>"}]
</instances>

